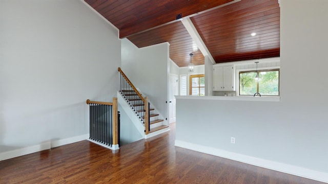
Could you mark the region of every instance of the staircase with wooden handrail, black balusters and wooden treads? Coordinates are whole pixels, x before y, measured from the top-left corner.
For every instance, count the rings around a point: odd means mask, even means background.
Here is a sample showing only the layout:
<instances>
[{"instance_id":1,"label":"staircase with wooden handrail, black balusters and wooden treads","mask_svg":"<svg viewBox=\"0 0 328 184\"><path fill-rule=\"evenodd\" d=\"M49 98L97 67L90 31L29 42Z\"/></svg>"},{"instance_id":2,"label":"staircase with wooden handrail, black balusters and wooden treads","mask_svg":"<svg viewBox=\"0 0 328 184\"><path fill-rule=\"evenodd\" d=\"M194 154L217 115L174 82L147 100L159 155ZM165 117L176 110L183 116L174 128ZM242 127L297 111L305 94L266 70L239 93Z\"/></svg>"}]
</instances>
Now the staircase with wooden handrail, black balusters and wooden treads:
<instances>
[{"instance_id":1,"label":"staircase with wooden handrail, black balusters and wooden treads","mask_svg":"<svg viewBox=\"0 0 328 184\"><path fill-rule=\"evenodd\" d=\"M118 94L122 97L119 102L125 104L125 111L129 111L130 119L134 119L135 126L139 127L137 128L138 131L141 134L143 134L142 130L145 131L145 139L168 131L168 122L159 118L162 117L161 114L149 103L148 98L141 95L141 91L134 87L120 68L118 68L118 71L120 74ZM135 117L133 117L133 114L135 114Z\"/></svg>"}]
</instances>

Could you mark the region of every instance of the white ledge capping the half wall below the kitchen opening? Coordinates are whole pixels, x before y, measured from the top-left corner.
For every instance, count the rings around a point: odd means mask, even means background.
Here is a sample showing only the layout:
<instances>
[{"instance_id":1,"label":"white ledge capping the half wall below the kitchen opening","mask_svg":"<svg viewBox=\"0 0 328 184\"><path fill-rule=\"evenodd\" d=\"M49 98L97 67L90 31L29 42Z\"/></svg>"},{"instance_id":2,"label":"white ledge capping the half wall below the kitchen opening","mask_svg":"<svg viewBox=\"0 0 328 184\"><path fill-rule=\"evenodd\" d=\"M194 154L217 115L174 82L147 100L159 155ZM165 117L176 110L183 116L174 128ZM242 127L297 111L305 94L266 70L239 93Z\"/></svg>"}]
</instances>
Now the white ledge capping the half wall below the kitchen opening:
<instances>
[{"instance_id":1,"label":"white ledge capping the half wall below the kitchen opening","mask_svg":"<svg viewBox=\"0 0 328 184\"><path fill-rule=\"evenodd\" d=\"M194 99L194 100L230 100L230 101L259 101L259 102L280 102L280 97L252 97L252 96L175 96L176 99Z\"/></svg>"}]
</instances>

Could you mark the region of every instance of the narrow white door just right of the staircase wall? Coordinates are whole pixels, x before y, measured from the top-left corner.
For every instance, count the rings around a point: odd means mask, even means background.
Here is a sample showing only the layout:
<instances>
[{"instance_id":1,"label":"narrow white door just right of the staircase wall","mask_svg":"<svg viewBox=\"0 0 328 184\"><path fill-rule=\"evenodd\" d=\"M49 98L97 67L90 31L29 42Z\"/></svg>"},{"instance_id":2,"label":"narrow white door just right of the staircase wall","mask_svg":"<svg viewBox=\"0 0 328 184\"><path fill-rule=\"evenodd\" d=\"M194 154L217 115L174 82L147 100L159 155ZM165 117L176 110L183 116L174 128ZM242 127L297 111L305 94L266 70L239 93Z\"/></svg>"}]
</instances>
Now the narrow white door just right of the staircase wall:
<instances>
[{"instance_id":1,"label":"narrow white door just right of the staircase wall","mask_svg":"<svg viewBox=\"0 0 328 184\"><path fill-rule=\"evenodd\" d=\"M179 80L178 75L170 74L170 119L169 122L175 122L175 95L179 94Z\"/></svg>"}]
</instances>

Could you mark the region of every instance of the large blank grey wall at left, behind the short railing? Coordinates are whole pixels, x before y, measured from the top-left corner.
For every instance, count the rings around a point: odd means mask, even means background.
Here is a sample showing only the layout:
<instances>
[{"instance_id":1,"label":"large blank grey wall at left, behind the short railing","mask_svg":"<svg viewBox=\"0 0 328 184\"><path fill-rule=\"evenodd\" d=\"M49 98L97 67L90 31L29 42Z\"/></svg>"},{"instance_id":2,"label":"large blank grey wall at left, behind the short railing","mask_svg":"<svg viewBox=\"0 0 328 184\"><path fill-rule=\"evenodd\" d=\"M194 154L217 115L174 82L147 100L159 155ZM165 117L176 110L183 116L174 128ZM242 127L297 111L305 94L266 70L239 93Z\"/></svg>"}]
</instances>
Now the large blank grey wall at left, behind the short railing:
<instances>
[{"instance_id":1,"label":"large blank grey wall at left, behind the short railing","mask_svg":"<svg viewBox=\"0 0 328 184\"><path fill-rule=\"evenodd\" d=\"M86 99L116 96L117 30L81 1L2 0L0 13L0 159L87 134Z\"/></svg>"}]
</instances>

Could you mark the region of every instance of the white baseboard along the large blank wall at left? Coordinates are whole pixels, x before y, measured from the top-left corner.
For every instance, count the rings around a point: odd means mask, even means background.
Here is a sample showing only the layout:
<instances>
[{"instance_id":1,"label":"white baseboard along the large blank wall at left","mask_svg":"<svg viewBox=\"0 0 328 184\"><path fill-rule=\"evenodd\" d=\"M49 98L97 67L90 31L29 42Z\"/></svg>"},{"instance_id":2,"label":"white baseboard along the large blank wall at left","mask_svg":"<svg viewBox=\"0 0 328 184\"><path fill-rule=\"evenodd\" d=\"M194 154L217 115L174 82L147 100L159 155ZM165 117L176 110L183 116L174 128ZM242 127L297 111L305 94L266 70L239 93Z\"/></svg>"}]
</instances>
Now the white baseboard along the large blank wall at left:
<instances>
[{"instance_id":1,"label":"white baseboard along the large blank wall at left","mask_svg":"<svg viewBox=\"0 0 328 184\"><path fill-rule=\"evenodd\" d=\"M38 145L24 147L24 148L18 148L18 149L15 149L15 150L2 152L2 153L0 153L0 160L14 158L14 157L17 157L17 156L23 156L23 155L30 154L30 153L35 153L35 152L38 152L38 151L43 151L43 150L47 150L47 149L50 149L50 148L75 143L75 142L86 140L88 138L89 138L89 134L84 134L84 135L70 137L70 138L63 139L63 140L46 141L46 142L40 143Z\"/></svg>"}]
</instances>

